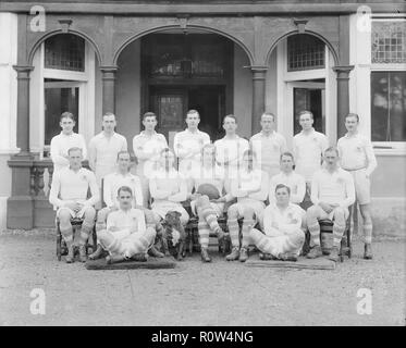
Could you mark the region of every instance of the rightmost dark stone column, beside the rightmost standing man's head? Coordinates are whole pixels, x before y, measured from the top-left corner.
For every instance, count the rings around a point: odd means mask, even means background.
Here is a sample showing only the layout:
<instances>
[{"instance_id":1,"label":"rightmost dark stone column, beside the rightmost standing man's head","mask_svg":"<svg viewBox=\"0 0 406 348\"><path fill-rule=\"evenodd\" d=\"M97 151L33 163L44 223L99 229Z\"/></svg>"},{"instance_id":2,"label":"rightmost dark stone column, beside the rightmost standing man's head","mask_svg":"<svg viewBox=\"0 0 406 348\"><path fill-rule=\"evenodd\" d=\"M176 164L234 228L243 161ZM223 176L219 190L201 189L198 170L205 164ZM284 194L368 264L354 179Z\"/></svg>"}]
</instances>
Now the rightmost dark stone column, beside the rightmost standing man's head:
<instances>
[{"instance_id":1,"label":"rightmost dark stone column, beside the rightmost standing man's head","mask_svg":"<svg viewBox=\"0 0 406 348\"><path fill-rule=\"evenodd\" d=\"M337 74L337 139L345 133L344 117L349 112L349 72L354 65L334 66L333 71Z\"/></svg>"}]
</instances>

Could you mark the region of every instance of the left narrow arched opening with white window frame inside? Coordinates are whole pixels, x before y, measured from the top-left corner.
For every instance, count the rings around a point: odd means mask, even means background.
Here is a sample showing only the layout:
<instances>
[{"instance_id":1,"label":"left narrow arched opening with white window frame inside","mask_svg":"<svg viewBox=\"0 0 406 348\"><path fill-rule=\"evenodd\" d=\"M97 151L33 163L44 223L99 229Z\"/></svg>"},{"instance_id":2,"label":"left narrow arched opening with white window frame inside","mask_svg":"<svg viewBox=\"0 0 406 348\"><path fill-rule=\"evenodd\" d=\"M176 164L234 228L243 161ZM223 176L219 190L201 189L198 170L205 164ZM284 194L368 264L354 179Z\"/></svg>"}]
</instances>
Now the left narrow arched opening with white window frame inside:
<instances>
[{"instance_id":1,"label":"left narrow arched opening with white window frame inside","mask_svg":"<svg viewBox=\"0 0 406 348\"><path fill-rule=\"evenodd\" d=\"M29 92L32 152L49 156L50 140L61 132L59 117L64 111L74 114L75 132L86 140L94 135L98 57L94 44L74 33L57 32L36 44L29 54L35 67Z\"/></svg>"}]
</instances>

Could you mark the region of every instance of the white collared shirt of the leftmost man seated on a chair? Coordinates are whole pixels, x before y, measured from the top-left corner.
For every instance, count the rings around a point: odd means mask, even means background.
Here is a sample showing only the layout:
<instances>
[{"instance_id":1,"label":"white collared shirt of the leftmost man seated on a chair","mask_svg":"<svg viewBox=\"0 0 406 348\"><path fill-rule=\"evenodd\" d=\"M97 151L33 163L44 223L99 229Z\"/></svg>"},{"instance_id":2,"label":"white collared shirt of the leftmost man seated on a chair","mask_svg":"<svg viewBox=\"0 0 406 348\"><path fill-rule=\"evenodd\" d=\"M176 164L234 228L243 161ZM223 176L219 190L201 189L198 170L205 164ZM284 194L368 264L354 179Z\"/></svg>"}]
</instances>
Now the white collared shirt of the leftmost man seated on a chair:
<instances>
[{"instance_id":1,"label":"white collared shirt of the leftmost man seated on a chair","mask_svg":"<svg viewBox=\"0 0 406 348\"><path fill-rule=\"evenodd\" d=\"M90 188L91 198L87 199ZM93 172L81 167L77 172L69 166L53 173L49 202L56 207L63 207L69 202L95 206L100 199L99 187Z\"/></svg>"}]
</instances>

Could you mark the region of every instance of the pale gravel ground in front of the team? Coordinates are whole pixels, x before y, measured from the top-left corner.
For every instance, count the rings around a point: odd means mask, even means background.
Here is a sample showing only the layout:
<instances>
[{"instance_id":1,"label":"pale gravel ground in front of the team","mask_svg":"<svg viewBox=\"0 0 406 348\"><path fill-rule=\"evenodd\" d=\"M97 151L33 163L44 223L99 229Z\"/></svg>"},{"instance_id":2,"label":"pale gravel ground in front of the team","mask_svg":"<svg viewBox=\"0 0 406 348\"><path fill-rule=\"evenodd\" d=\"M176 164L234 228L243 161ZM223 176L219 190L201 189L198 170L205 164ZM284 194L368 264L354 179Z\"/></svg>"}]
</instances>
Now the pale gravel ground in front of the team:
<instances>
[{"instance_id":1,"label":"pale gravel ground in front of the team","mask_svg":"<svg viewBox=\"0 0 406 348\"><path fill-rule=\"evenodd\" d=\"M374 259L334 271L248 268L199 256L173 270L88 271L58 262L49 232L0 234L1 325L405 325L405 241L381 239ZM212 254L216 254L212 252ZM257 256L254 256L255 258ZM46 314L29 311L32 289ZM372 313L357 313L357 291Z\"/></svg>"}]
</instances>

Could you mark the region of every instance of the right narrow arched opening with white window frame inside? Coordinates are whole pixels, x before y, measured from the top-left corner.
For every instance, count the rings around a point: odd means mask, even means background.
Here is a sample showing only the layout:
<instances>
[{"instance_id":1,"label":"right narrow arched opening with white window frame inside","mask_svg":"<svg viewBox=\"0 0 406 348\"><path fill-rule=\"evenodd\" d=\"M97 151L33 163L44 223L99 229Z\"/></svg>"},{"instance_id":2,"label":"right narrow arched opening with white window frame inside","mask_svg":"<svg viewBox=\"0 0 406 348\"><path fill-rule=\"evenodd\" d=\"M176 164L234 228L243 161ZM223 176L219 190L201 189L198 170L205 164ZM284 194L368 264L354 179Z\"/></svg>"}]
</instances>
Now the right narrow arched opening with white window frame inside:
<instances>
[{"instance_id":1,"label":"right narrow arched opening with white window frame inside","mask_svg":"<svg viewBox=\"0 0 406 348\"><path fill-rule=\"evenodd\" d=\"M273 46L268 57L267 103L279 115L279 130L292 141L299 133L298 113L310 110L313 127L335 137L336 78L332 67L336 54L320 37L288 34ZM288 144L291 145L291 144Z\"/></svg>"}]
</instances>

